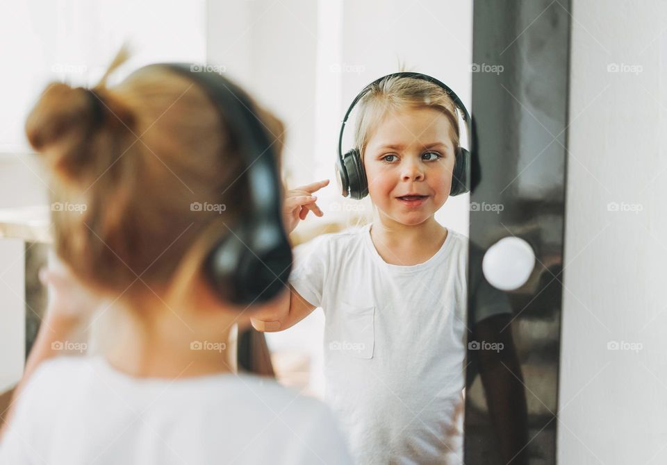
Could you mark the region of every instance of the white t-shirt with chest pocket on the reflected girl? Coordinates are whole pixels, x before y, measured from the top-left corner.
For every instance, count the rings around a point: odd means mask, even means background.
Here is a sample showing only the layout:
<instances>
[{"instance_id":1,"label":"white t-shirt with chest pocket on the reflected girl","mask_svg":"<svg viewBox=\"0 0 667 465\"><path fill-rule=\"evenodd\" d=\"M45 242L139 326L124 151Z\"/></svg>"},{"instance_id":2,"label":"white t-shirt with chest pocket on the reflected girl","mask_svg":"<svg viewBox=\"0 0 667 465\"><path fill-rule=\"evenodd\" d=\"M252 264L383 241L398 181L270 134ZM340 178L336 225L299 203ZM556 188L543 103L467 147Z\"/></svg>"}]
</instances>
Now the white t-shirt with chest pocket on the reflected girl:
<instances>
[{"instance_id":1,"label":"white t-shirt with chest pocket on the reflected girl","mask_svg":"<svg viewBox=\"0 0 667 465\"><path fill-rule=\"evenodd\" d=\"M358 464L460 464L468 239L452 230L435 255L386 263L370 227L295 249L290 284L322 307L326 399ZM511 311L488 291L476 321Z\"/></svg>"}]
</instances>

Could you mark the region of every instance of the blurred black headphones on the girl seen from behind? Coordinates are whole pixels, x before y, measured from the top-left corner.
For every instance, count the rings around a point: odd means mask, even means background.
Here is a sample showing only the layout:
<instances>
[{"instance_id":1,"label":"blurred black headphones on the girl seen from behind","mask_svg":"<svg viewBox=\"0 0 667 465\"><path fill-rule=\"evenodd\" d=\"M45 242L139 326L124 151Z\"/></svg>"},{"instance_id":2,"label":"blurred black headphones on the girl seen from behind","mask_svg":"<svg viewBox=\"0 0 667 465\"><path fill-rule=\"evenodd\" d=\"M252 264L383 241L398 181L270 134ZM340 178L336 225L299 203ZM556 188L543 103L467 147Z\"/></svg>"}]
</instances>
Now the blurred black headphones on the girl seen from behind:
<instances>
[{"instance_id":1,"label":"blurred black headphones on the girl seen from behind","mask_svg":"<svg viewBox=\"0 0 667 465\"><path fill-rule=\"evenodd\" d=\"M277 155L247 94L227 78L190 63L159 63L201 87L230 128L245 160L250 205L242 219L221 234L206 257L205 273L226 301L269 301L286 287L292 248L283 227Z\"/></svg>"}]
</instances>

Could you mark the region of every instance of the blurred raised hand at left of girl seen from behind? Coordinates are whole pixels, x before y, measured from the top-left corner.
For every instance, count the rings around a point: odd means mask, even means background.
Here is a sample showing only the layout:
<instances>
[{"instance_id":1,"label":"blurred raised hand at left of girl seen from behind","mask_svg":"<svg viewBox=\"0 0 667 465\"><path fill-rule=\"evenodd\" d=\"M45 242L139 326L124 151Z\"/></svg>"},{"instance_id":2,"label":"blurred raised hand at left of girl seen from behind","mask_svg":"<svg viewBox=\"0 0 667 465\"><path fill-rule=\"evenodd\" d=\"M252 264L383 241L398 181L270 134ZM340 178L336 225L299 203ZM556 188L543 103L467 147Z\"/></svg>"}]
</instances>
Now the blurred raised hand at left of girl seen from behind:
<instances>
[{"instance_id":1,"label":"blurred raised hand at left of girl seen from behind","mask_svg":"<svg viewBox=\"0 0 667 465\"><path fill-rule=\"evenodd\" d=\"M83 323L100 306L102 299L77 280L72 271L58 260L40 269L40 281L49 288L49 319Z\"/></svg>"}]
</instances>

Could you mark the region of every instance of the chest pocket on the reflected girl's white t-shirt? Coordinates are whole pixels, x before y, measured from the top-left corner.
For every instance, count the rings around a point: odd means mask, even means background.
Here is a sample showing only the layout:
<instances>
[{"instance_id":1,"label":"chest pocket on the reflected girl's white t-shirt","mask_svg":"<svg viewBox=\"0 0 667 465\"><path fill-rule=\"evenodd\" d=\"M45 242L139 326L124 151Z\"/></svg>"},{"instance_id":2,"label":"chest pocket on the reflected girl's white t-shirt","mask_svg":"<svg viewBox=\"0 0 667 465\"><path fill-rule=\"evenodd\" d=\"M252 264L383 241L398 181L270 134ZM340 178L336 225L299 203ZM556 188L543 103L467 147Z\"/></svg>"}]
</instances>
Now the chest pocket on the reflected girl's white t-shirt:
<instances>
[{"instance_id":1,"label":"chest pocket on the reflected girl's white t-shirt","mask_svg":"<svg viewBox=\"0 0 667 465\"><path fill-rule=\"evenodd\" d=\"M343 310L343 340L340 350L345 355L372 358L375 346L375 307L358 307L341 303Z\"/></svg>"}]
</instances>

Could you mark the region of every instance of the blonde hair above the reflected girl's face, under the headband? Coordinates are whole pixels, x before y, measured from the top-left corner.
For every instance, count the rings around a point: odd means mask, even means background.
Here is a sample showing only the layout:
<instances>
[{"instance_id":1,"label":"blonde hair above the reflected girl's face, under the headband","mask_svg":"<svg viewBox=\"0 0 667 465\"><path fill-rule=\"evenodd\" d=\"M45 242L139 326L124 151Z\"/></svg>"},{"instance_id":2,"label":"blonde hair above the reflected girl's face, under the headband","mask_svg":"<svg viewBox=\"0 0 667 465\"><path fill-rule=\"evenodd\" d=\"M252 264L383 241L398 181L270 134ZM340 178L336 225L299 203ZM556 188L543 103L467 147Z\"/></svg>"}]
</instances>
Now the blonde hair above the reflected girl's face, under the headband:
<instances>
[{"instance_id":1,"label":"blonde hair above the reflected girl's face, under the headband","mask_svg":"<svg viewBox=\"0 0 667 465\"><path fill-rule=\"evenodd\" d=\"M362 160L368 140L379 122L388 112L398 112L406 107L433 108L442 112L450 121L454 148L459 146L459 119L449 94L439 85L422 79L392 76L370 86L357 103L354 146L361 152Z\"/></svg>"}]
</instances>

